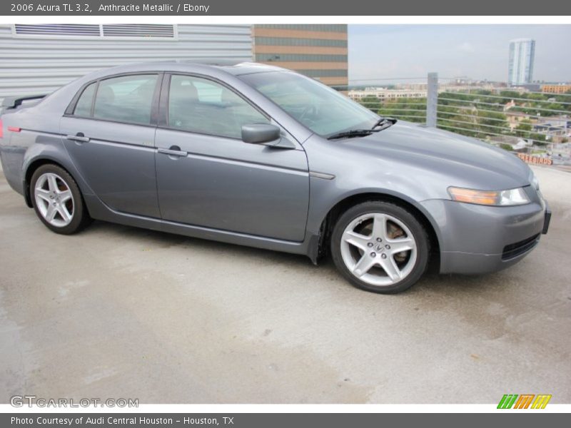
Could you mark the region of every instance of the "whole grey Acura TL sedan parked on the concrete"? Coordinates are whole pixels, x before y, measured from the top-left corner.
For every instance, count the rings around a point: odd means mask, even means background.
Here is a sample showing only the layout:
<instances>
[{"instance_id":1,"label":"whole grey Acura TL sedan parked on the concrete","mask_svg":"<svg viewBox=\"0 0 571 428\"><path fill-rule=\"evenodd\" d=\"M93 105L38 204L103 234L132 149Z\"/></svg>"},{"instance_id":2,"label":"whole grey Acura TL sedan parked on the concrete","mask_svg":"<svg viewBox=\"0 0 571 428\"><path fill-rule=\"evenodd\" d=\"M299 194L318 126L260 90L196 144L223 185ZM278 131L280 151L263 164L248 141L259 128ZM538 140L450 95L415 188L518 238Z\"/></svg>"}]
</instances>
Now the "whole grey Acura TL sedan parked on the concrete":
<instances>
[{"instance_id":1,"label":"whole grey Acura TL sedan parked on the concrete","mask_svg":"<svg viewBox=\"0 0 571 428\"><path fill-rule=\"evenodd\" d=\"M271 66L173 61L4 100L10 185L56 233L91 218L308 255L399 292L521 260L550 211L530 168L486 143L381 118Z\"/></svg>"}]
</instances>

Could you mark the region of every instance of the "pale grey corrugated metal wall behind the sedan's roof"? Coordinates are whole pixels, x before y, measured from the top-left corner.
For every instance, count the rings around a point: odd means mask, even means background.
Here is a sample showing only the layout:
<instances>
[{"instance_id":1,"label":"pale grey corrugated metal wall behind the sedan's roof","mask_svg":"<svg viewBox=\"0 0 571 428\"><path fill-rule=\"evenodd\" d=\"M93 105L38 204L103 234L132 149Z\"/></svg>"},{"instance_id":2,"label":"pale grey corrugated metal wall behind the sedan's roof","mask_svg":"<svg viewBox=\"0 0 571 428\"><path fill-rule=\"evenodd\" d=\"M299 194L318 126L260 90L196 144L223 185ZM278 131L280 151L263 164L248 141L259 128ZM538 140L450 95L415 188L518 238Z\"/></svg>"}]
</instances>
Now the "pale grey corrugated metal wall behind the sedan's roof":
<instances>
[{"instance_id":1,"label":"pale grey corrugated metal wall behind the sedan's roof","mask_svg":"<svg viewBox=\"0 0 571 428\"><path fill-rule=\"evenodd\" d=\"M0 24L0 58L1 99L49 93L92 71L134 62L201 58L252 61L251 26L178 24L174 39L136 40L14 36L11 25Z\"/></svg>"}]
</instances>

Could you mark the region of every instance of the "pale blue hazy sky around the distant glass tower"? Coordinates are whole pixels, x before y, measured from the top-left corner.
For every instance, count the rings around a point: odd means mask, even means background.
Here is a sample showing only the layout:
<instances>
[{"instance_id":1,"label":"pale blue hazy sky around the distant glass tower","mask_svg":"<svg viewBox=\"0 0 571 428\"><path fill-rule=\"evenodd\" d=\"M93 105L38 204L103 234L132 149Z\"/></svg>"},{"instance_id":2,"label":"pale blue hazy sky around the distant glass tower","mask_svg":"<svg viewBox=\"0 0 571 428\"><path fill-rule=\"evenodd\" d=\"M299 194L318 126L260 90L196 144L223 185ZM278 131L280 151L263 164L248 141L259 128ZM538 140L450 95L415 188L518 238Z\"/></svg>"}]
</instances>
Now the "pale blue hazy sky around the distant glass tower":
<instances>
[{"instance_id":1,"label":"pale blue hazy sky around the distant glass tower","mask_svg":"<svg viewBox=\"0 0 571 428\"><path fill-rule=\"evenodd\" d=\"M571 25L349 25L350 83L468 76L505 81L511 39L535 39L534 80L571 81Z\"/></svg>"}]
</instances>

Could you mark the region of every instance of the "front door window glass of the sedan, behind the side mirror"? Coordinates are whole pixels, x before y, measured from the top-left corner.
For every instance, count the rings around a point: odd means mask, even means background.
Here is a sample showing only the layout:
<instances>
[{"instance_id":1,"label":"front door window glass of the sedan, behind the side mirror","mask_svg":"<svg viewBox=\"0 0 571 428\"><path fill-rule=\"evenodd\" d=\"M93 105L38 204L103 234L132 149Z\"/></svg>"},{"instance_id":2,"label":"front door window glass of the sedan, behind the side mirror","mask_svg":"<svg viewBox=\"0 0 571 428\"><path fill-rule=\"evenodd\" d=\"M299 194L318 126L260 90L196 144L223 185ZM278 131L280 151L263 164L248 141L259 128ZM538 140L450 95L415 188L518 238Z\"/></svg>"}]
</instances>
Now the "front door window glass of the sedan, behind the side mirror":
<instances>
[{"instance_id":1,"label":"front door window glass of the sedan, behind the side mirror","mask_svg":"<svg viewBox=\"0 0 571 428\"><path fill-rule=\"evenodd\" d=\"M241 138L243 125L269 122L225 86L204 78L171 76L168 91L168 126L171 128Z\"/></svg>"}]
</instances>

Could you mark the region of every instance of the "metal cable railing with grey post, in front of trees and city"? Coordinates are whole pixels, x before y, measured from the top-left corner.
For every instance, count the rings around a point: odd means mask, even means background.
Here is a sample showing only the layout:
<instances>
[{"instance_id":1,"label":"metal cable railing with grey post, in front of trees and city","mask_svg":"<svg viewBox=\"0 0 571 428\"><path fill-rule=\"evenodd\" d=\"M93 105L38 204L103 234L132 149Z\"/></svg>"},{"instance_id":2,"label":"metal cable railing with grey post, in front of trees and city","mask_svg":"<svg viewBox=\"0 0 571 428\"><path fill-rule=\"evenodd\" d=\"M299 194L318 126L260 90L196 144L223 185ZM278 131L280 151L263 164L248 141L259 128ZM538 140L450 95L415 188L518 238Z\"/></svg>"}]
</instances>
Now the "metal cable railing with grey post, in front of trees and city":
<instances>
[{"instance_id":1,"label":"metal cable railing with grey post, in front of trees and city","mask_svg":"<svg viewBox=\"0 0 571 428\"><path fill-rule=\"evenodd\" d=\"M415 83L387 83L407 80ZM422 80L383 78L378 86L372 82L343 91L381 116L425 123L571 165L571 93L526 91L492 83L478 86L450 78L439 81L437 73L428 73Z\"/></svg>"}]
</instances>

